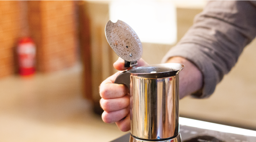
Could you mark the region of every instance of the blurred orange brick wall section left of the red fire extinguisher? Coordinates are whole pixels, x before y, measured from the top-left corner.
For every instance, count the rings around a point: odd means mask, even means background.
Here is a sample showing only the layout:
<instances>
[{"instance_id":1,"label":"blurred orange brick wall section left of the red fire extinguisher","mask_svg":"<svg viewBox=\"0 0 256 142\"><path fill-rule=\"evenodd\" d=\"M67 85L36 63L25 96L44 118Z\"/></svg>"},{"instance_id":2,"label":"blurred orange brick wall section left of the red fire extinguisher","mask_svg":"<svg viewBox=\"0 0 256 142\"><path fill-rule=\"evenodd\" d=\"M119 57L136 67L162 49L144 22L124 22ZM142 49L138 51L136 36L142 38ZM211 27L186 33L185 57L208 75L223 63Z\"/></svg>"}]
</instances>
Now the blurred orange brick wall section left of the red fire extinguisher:
<instances>
[{"instance_id":1,"label":"blurred orange brick wall section left of the red fire extinguisher","mask_svg":"<svg viewBox=\"0 0 256 142\"><path fill-rule=\"evenodd\" d=\"M14 73L14 47L21 34L22 13L17 0L0 2L0 78Z\"/></svg>"}]
</instances>

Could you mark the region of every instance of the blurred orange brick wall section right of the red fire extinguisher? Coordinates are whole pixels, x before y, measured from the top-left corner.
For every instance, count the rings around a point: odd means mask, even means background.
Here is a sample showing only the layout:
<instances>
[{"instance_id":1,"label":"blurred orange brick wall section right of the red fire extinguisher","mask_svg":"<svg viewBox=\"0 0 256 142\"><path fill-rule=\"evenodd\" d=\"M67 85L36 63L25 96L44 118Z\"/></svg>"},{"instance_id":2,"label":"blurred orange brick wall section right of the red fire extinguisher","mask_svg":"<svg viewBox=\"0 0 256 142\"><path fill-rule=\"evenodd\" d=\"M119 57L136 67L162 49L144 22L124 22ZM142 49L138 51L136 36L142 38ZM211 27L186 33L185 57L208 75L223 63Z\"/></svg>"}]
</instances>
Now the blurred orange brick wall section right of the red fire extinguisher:
<instances>
[{"instance_id":1,"label":"blurred orange brick wall section right of the red fire extinguisher","mask_svg":"<svg viewBox=\"0 0 256 142\"><path fill-rule=\"evenodd\" d=\"M73 0L28 0L30 31L37 45L37 69L52 72L77 62Z\"/></svg>"}]
</instances>

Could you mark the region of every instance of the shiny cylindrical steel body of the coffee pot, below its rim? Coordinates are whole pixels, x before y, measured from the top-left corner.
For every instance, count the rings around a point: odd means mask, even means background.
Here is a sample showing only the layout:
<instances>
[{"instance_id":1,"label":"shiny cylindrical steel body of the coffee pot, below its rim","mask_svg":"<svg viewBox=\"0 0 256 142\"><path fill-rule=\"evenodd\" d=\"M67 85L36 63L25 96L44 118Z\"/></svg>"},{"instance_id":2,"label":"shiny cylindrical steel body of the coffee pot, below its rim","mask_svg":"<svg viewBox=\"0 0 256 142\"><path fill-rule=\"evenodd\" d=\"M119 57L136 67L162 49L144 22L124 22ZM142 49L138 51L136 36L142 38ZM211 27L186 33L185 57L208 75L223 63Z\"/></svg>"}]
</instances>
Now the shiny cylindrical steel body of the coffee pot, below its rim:
<instances>
[{"instance_id":1,"label":"shiny cylindrical steel body of the coffee pot, below its rim","mask_svg":"<svg viewBox=\"0 0 256 142\"><path fill-rule=\"evenodd\" d=\"M166 139L179 132L179 74L145 78L131 74L131 134Z\"/></svg>"}]
</instances>

